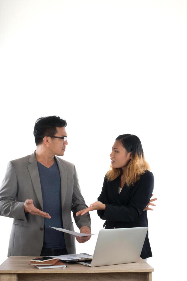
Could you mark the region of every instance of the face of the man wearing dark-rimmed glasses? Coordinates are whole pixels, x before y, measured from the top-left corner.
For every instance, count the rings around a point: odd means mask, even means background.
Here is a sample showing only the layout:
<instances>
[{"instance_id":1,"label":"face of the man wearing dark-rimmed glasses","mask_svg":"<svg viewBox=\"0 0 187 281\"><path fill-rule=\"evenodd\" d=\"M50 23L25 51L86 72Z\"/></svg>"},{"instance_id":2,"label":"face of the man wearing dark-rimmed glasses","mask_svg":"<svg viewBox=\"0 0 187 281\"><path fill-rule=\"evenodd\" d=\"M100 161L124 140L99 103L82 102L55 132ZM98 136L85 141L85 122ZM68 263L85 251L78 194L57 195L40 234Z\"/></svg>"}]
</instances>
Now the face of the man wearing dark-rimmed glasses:
<instances>
[{"instance_id":1,"label":"face of the man wearing dark-rimmed glasses","mask_svg":"<svg viewBox=\"0 0 187 281\"><path fill-rule=\"evenodd\" d=\"M65 127L56 127L57 133L54 136L67 136ZM53 155L63 156L67 140L64 141L61 138L50 138L49 149Z\"/></svg>"}]
</instances>

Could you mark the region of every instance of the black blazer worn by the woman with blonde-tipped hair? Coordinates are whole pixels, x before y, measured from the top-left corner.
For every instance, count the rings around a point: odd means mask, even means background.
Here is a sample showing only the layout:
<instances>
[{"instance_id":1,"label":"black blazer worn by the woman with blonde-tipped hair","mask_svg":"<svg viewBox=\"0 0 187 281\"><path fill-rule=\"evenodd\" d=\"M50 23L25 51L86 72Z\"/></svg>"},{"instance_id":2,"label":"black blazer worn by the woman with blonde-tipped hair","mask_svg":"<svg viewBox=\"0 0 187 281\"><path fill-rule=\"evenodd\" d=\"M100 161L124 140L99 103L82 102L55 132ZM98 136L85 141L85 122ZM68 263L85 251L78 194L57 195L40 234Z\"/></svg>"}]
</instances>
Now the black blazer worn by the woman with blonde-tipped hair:
<instances>
[{"instance_id":1,"label":"black blazer worn by the woman with blonde-tipped hair","mask_svg":"<svg viewBox=\"0 0 187 281\"><path fill-rule=\"evenodd\" d=\"M154 176L152 172L146 171L134 186L127 187L126 184L118 194L120 176L113 181L104 179L102 192L98 197L106 205L105 210L98 210L98 216L104 223L105 229L148 227L147 206L154 188ZM152 257L148 233L142 248L140 257L146 259Z\"/></svg>"}]
</instances>

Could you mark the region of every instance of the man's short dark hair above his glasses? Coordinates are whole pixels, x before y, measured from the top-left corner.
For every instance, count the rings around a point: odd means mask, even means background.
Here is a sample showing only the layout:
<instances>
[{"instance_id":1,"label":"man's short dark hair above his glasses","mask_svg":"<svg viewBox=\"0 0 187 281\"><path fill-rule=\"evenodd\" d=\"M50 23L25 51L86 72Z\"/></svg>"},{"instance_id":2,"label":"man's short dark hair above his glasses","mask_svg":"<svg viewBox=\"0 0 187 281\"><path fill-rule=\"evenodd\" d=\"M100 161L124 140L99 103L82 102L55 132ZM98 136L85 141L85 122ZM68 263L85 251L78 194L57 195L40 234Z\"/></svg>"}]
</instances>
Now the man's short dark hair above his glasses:
<instances>
[{"instance_id":1,"label":"man's short dark hair above his glasses","mask_svg":"<svg viewBox=\"0 0 187 281\"><path fill-rule=\"evenodd\" d=\"M44 136L54 136L57 133L56 127L66 127L66 120L59 116L40 117L36 120L34 126L34 137L36 145L43 142Z\"/></svg>"}]
</instances>

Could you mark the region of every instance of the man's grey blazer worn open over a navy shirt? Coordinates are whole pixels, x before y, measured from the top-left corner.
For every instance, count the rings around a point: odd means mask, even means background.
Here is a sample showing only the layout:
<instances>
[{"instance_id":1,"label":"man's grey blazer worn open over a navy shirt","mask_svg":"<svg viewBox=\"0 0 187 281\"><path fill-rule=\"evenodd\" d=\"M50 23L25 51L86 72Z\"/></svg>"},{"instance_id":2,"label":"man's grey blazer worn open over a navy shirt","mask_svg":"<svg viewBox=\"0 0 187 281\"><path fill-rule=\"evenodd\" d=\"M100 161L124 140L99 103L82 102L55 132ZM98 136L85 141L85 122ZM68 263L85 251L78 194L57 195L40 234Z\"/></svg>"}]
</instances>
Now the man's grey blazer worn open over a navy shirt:
<instances>
[{"instance_id":1,"label":"man's grey blazer worn open over a navy shirt","mask_svg":"<svg viewBox=\"0 0 187 281\"><path fill-rule=\"evenodd\" d=\"M74 164L55 156L61 177L61 203L63 227L74 231L71 211L77 227L91 229L90 215L75 216L76 212L87 208L81 195ZM36 208L43 211L41 185L35 152L8 163L0 189L0 215L13 218L9 240L8 257L39 256L43 246L44 219L24 212L26 199L33 199ZM44 210L45 211L45 210ZM52 225L51 225L52 226ZM75 237L64 233L67 252L75 251Z\"/></svg>"}]
</instances>

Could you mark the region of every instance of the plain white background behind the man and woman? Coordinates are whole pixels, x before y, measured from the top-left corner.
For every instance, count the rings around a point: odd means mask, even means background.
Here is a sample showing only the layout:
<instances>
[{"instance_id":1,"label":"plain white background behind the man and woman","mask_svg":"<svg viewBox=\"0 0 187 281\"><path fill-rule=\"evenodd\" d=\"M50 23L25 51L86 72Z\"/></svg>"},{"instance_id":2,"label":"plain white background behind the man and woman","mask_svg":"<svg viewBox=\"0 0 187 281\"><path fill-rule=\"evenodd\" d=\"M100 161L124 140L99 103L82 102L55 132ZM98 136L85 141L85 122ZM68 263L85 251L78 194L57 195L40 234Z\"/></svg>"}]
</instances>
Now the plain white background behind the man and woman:
<instances>
[{"instance_id":1,"label":"plain white background behind the man and woman","mask_svg":"<svg viewBox=\"0 0 187 281\"><path fill-rule=\"evenodd\" d=\"M148 212L153 280L182 277L186 265L186 8L180 0L0 1L0 180L8 161L35 150L35 120L59 115L63 159L75 164L89 205L115 138L137 135L158 198ZM91 222L93 233L102 229L96 211ZM12 219L0 225L1 264ZM76 243L77 253L93 254L96 239Z\"/></svg>"}]
</instances>

